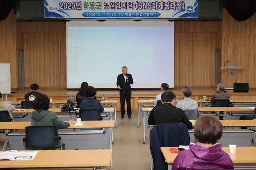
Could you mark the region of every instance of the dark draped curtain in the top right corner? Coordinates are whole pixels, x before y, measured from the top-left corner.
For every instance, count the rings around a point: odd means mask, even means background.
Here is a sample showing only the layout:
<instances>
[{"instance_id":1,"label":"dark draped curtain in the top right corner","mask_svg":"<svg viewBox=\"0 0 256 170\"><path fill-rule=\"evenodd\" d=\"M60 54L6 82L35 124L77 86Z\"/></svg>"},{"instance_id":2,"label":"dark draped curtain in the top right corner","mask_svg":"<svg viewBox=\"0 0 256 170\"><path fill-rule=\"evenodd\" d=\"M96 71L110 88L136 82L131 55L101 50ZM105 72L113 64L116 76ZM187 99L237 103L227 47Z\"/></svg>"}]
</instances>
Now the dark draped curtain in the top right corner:
<instances>
[{"instance_id":1,"label":"dark draped curtain in the top right corner","mask_svg":"<svg viewBox=\"0 0 256 170\"><path fill-rule=\"evenodd\" d=\"M256 12L256 0L223 0L223 7L236 20L247 20Z\"/></svg>"}]
</instances>

